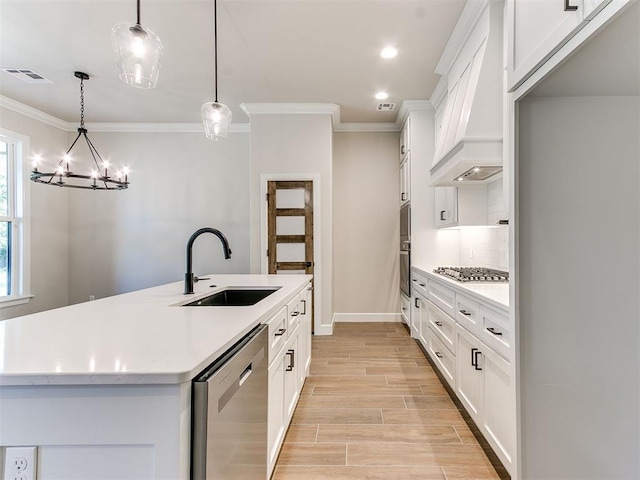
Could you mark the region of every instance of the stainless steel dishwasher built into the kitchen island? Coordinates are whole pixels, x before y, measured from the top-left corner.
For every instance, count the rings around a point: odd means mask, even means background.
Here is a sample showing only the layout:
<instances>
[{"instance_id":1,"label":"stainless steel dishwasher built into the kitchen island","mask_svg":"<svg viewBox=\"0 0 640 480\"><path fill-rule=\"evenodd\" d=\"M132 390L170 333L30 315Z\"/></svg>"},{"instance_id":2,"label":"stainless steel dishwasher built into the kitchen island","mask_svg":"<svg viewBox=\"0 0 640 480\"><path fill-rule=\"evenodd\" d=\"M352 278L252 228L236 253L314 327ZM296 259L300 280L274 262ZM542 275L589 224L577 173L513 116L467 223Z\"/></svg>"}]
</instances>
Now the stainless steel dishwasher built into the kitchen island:
<instances>
[{"instance_id":1,"label":"stainless steel dishwasher built into the kitchen island","mask_svg":"<svg viewBox=\"0 0 640 480\"><path fill-rule=\"evenodd\" d=\"M193 380L192 480L267 478L267 326Z\"/></svg>"}]
</instances>

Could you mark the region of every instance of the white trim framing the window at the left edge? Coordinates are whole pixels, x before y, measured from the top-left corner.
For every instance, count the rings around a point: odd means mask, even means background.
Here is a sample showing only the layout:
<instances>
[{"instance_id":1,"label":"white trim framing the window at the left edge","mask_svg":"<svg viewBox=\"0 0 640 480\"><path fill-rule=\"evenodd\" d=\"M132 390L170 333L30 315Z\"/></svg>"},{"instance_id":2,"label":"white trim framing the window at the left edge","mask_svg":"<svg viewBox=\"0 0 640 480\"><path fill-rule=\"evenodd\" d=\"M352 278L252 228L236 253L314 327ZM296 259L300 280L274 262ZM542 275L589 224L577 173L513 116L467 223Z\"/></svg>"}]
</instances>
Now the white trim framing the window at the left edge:
<instances>
[{"instance_id":1,"label":"white trim framing the window at the left edge","mask_svg":"<svg viewBox=\"0 0 640 480\"><path fill-rule=\"evenodd\" d=\"M29 302L31 294L31 211L28 199L30 192L29 137L0 128L0 137L10 145L13 157L11 177L15 179L13 194L9 199L13 208L11 236L18 239L19 248L11 252L11 295L0 297L0 308L23 305ZM11 207L10 207L11 208Z\"/></svg>"}]
</instances>

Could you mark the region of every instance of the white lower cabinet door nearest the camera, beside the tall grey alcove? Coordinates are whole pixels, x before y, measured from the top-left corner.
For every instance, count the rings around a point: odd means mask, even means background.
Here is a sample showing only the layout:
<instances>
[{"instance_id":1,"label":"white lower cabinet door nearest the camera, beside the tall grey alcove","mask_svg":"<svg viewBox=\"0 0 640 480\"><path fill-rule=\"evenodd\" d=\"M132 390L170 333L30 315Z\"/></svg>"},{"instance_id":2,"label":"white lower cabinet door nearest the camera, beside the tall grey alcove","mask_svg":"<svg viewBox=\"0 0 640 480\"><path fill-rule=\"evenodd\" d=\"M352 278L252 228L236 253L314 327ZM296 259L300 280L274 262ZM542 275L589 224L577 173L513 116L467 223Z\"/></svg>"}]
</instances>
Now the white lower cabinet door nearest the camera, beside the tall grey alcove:
<instances>
[{"instance_id":1,"label":"white lower cabinet door nearest the camera, beside the tall grey alcove","mask_svg":"<svg viewBox=\"0 0 640 480\"><path fill-rule=\"evenodd\" d=\"M515 408L509 363L489 348L482 349L484 357L484 412L482 427L489 442L505 467L513 462L515 452Z\"/></svg>"}]
</instances>

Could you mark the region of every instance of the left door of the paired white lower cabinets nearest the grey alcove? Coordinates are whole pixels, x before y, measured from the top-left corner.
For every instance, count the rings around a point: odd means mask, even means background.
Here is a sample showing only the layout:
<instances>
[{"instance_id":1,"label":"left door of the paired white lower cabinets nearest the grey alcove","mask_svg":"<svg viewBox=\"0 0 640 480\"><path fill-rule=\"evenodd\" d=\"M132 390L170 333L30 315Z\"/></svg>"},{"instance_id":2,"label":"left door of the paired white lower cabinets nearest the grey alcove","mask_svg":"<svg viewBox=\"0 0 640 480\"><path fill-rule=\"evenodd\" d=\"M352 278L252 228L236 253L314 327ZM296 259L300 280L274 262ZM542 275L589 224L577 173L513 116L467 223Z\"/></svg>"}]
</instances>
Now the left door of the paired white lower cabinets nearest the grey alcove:
<instances>
[{"instance_id":1,"label":"left door of the paired white lower cabinets nearest the grey alcove","mask_svg":"<svg viewBox=\"0 0 640 480\"><path fill-rule=\"evenodd\" d=\"M480 342L459 325L456 326L456 394L476 422L481 424L484 399L483 358Z\"/></svg>"}]
</instances>

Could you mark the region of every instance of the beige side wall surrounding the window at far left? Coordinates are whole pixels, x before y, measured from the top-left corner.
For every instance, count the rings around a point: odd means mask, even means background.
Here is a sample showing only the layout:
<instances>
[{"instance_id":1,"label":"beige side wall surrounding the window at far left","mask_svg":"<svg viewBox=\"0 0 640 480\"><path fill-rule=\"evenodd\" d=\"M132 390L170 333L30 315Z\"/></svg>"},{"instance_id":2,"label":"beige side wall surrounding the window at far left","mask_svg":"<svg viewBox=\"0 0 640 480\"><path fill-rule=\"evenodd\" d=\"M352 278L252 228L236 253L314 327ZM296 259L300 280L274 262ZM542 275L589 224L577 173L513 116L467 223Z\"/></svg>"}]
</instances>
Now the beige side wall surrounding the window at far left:
<instances>
[{"instance_id":1,"label":"beige side wall surrounding the window at far left","mask_svg":"<svg viewBox=\"0 0 640 480\"><path fill-rule=\"evenodd\" d=\"M29 138L30 151L23 152L28 170L34 153L59 156L68 148L67 132L6 108L0 108L0 128ZM34 297L28 304L0 309L0 319L61 307L69 300L67 191L27 183Z\"/></svg>"}]
</instances>

